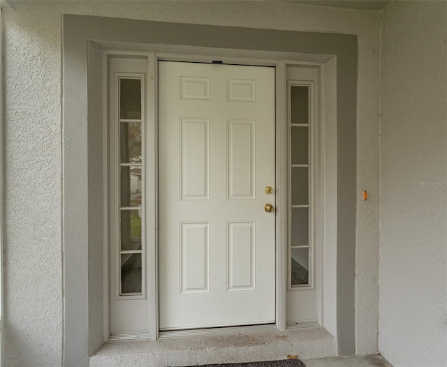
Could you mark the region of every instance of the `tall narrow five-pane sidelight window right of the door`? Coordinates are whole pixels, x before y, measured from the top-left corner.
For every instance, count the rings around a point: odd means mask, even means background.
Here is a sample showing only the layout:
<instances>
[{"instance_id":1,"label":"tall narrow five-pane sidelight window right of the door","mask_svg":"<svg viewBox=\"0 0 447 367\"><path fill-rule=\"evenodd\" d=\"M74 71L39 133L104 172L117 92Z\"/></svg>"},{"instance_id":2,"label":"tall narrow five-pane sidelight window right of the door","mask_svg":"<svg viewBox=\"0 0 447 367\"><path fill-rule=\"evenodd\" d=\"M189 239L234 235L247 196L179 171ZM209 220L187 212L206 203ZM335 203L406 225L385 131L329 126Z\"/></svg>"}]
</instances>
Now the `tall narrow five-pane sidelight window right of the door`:
<instances>
[{"instance_id":1,"label":"tall narrow five-pane sidelight window right of the door","mask_svg":"<svg viewBox=\"0 0 447 367\"><path fill-rule=\"evenodd\" d=\"M313 82L288 81L289 289L312 287L314 271Z\"/></svg>"}]
</instances>

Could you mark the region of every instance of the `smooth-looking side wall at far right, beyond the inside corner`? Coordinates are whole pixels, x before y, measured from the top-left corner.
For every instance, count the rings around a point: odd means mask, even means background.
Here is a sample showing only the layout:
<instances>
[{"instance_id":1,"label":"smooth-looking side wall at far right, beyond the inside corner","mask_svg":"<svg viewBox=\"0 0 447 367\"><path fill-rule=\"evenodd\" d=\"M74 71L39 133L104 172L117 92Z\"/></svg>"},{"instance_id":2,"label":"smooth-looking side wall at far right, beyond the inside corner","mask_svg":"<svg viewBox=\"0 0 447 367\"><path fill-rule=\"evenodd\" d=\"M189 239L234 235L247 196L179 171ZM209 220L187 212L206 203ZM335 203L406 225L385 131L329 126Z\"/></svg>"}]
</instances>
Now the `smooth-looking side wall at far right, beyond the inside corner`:
<instances>
[{"instance_id":1,"label":"smooth-looking side wall at far right, beyond the inside corner","mask_svg":"<svg viewBox=\"0 0 447 367\"><path fill-rule=\"evenodd\" d=\"M447 2L384 8L379 350L395 367L447 366L446 41Z\"/></svg>"}]
</instances>

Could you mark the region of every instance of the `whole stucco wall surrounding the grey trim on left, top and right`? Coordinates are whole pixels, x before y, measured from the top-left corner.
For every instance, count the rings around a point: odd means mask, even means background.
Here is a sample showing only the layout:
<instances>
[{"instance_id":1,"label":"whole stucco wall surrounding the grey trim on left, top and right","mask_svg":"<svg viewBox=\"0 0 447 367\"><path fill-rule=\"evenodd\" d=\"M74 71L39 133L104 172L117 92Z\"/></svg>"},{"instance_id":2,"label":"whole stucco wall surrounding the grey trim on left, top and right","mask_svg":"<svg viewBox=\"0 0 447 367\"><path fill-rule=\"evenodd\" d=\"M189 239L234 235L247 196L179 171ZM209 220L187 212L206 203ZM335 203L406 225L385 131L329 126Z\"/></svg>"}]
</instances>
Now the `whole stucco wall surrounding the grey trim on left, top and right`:
<instances>
[{"instance_id":1,"label":"whole stucco wall surrounding the grey trim on left, top and right","mask_svg":"<svg viewBox=\"0 0 447 367\"><path fill-rule=\"evenodd\" d=\"M378 12L276 1L15 1L13 6L3 13L8 366L59 366L62 358L61 13L358 34L357 136L358 144L371 146L358 149L358 185L378 192ZM367 207L358 205L360 354L376 350L378 208L374 195Z\"/></svg>"}]
</instances>

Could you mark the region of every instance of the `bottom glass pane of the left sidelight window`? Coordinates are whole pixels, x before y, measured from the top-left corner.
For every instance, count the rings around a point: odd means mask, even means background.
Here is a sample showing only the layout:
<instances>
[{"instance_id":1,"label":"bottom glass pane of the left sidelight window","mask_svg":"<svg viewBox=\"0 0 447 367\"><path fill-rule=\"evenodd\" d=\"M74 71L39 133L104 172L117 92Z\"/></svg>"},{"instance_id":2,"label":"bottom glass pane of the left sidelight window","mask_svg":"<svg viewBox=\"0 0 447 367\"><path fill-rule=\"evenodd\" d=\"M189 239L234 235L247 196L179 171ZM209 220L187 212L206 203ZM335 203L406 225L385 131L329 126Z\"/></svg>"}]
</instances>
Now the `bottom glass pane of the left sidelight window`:
<instances>
[{"instance_id":1,"label":"bottom glass pane of the left sidelight window","mask_svg":"<svg viewBox=\"0 0 447 367\"><path fill-rule=\"evenodd\" d=\"M140 253L121 255L121 294L141 293L142 264Z\"/></svg>"}]
</instances>

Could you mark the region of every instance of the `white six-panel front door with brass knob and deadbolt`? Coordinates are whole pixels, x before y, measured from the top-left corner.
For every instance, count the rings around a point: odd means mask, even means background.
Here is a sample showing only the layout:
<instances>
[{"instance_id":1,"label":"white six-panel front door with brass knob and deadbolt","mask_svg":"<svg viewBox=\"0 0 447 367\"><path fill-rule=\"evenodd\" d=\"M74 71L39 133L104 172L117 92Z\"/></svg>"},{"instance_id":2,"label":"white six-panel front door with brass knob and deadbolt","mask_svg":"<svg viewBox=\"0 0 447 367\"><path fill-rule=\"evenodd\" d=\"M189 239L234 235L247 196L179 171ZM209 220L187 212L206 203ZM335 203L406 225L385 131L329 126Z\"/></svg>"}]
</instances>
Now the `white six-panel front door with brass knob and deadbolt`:
<instances>
[{"instance_id":1,"label":"white six-panel front door with brass knob and deadbolt","mask_svg":"<svg viewBox=\"0 0 447 367\"><path fill-rule=\"evenodd\" d=\"M275 321L274 83L159 62L161 330Z\"/></svg>"}]
</instances>

